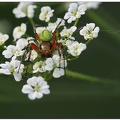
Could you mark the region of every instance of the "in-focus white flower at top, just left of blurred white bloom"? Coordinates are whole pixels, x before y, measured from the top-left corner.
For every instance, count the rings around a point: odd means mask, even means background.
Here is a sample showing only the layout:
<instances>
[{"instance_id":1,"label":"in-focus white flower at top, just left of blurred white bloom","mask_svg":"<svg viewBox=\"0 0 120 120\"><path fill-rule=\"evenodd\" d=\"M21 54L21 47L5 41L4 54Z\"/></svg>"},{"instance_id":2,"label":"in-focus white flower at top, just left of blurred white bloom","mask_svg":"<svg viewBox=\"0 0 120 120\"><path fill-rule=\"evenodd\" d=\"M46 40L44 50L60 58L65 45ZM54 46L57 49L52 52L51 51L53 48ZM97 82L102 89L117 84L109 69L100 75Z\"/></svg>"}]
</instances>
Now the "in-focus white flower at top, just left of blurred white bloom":
<instances>
[{"instance_id":1,"label":"in-focus white flower at top, just left of blurred white bloom","mask_svg":"<svg viewBox=\"0 0 120 120\"><path fill-rule=\"evenodd\" d=\"M75 21L77 18L80 18L81 15L85 14L87 7L85 5L79 5L77 3L71 3L69 5L68 12L65 14L64 19L68 19L67 22L71 23Z\"/></svg>"}]
</instances>

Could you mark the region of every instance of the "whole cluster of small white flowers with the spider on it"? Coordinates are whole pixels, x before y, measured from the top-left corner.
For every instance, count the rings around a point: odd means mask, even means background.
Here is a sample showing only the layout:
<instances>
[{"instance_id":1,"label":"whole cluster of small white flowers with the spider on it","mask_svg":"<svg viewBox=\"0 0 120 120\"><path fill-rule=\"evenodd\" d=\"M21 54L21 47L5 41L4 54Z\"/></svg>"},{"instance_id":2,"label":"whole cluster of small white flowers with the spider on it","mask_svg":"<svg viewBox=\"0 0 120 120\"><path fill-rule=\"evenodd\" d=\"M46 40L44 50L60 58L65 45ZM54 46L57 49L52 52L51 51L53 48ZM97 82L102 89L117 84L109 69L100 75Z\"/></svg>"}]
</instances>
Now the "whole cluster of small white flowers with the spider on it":
<instances>
[{"instance_id":1,"label":"whole cluster of small white flowers with the spider on it","mask_svg":"<svg viewBox=\"0 0 120 120\"><path fill-rule=\"evenodd\" d=\"M99 27L95 23L87 23L81 30L77 28L78 20L87 10L85 5L71 3L68 12L63 18L52 22L54 9L43 6L38 19L44 21L46 26L36 26L33 21L35 8L33 3L19 3L13 9L16 18L28 17L34 31L34 36L27 33L27 24L21 23L13 30L13 45L4 47L2 55L5 63L0 64L0 73L13 75L16 81L26 79L27 84L22 88L22 93L28 94L31 100L40 99L43 94L49 94L47 81L65 75L65 69L71 60L78 58L87 48L86 40L97 38ZM66 23L70 27L67 27ZM83 36L85 43L80 42L74 33ZM5 44L8 35L0 33L0 45Z\"/></svg>"}]
</instances>

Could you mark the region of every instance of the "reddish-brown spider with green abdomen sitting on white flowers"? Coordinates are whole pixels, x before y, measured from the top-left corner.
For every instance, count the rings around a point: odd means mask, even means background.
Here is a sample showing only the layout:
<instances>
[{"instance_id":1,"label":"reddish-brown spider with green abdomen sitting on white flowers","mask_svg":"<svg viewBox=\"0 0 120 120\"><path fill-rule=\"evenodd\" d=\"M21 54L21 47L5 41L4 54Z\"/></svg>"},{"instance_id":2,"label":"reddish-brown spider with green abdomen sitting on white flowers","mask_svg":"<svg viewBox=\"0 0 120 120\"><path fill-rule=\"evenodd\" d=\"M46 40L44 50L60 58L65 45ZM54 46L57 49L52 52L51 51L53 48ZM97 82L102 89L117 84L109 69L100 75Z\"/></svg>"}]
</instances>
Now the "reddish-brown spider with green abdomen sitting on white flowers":
<instances>
[{"instance_id":1,"label":"reddish-brown spider with green abdomen sitting on white flowers","mask_svg":"<svg viewBox=\"0 0 120 120\"><path fill-rule=\"evenodd\" d=\"M58 25L56 26L56 28L54 29L54 32L50 32L47 29L42 31L42 35L44 35L44 38L41 36L39 36L36 33L36 29L35 26L33 25L33 30L34 30L34 34L35 34L35 40L39 43L38 45L35 43L29 43L26 46L25 52L21 58L21 62L23 57L29 52L28 54L28 62L30 61L30 57L31 57L31 50L35 50L42 58L48 58L48 57L52 57L53 52L55 50L58 51L58 54L60 56L59 59L59 68L60 68L60 61L61 61L61 56L63 56L64 59L64 69L65 69L65 56L64 56L64 52L62 50L62 44L58 43L58 39L57 39L57 29L59 27L59 25L61 24L62 20L58 23ZM33 40L33 39L32 39Z\"/></svg>"}]
</instances>

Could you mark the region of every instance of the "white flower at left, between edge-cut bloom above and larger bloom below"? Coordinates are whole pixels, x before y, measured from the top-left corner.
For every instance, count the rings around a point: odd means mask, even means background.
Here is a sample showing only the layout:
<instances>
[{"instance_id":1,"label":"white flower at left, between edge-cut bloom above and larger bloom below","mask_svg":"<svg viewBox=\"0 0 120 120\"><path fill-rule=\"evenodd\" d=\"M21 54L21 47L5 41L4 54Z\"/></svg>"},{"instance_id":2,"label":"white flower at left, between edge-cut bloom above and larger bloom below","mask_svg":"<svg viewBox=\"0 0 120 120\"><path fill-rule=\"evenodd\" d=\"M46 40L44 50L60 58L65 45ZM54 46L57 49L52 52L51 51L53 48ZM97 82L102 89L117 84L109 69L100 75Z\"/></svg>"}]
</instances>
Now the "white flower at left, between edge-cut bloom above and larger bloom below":
<instances>
[{"instance_id":1,"label":"white flower at left, between edge-cut bloom above and larger bloom below","mask_svg":"<svg viewBox=\"0 0 120 120\"><path fill-rule=\"evenodd\" d=\"M2 52L2 54L5 58L13 57L14 59L16 59L17 56L23 55L23 51L17 46L9 45L6 47L6 50Z\"/></svg>"}]
</instances>

